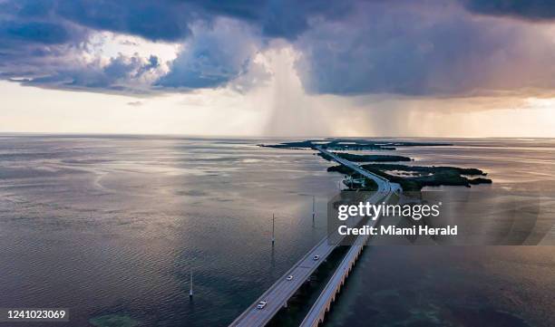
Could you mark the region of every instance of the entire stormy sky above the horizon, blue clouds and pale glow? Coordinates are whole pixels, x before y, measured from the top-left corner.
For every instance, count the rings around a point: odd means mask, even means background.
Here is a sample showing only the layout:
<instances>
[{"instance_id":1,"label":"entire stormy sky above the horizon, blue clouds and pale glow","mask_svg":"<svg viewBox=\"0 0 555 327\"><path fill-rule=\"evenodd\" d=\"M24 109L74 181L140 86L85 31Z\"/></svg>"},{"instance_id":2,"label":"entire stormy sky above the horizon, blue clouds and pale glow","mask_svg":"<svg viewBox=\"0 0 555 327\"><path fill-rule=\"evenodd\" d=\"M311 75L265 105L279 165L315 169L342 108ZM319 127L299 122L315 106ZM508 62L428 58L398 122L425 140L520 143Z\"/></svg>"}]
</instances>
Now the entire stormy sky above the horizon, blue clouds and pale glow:
<instances>
[{"instance_id":1,"label":"entire stormy sky above the horizon, blue clouds and pale glow","mask_svg":"<svg viewBox=\"0 0 555 327\"><path fill-rule=\"evenodd\" d=\"M0 132L555 137L548 0L0 0Z\"/></svg>"}]
</instances>

